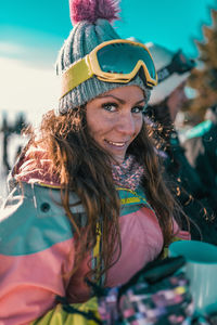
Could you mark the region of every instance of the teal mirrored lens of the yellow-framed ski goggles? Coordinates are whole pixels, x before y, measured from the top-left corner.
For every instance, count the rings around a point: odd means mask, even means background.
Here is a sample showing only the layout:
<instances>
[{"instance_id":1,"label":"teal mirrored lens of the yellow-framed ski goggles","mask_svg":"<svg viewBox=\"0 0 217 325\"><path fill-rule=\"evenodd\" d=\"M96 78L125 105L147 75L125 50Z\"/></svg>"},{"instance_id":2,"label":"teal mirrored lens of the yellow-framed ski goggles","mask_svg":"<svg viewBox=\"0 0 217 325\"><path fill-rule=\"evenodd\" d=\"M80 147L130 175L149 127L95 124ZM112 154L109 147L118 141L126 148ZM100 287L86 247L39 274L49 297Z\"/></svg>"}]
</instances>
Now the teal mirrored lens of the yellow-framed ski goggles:
<instances>
[{"instance_id":1,"label":"teal mirrored lens of the yellow-framed ski goggles","mask_svg":"<svg viewBox=\"0 0 217 325\"><path fill-rule=\"evenodd\" d=\"M142 47L129 43L113 43L100 49L97 56L101 70L112 74L130 74L138 61L141 60L145 64L150 77L156 79L152 57Z\"/></svg>"}]
</instances>

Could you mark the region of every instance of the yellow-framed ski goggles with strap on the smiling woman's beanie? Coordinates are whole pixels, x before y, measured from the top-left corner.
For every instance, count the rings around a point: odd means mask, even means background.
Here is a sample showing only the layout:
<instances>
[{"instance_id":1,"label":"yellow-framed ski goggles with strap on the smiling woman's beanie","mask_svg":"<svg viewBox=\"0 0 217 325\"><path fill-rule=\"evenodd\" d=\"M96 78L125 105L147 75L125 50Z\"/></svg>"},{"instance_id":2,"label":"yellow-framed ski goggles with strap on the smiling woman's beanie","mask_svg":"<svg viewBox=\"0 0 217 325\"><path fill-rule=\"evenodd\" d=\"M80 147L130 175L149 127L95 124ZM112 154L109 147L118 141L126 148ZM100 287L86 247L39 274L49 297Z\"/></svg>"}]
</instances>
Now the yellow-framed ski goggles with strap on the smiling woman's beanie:
<instances>
[{"instance_id":1,"label":"yellow-framed ski goggles with strap on the smiling woman's beanie","mask_svg":"<svg viewBox=\"0 0 217 325\"><path fill-rule=\"evenodd\" d=\"M105 41L62 75L61 98L93 76L105 82L127 83L138 73L146 87L156 86L154 62L145 46L123 39Z\"/></svg>"}]
</instances>

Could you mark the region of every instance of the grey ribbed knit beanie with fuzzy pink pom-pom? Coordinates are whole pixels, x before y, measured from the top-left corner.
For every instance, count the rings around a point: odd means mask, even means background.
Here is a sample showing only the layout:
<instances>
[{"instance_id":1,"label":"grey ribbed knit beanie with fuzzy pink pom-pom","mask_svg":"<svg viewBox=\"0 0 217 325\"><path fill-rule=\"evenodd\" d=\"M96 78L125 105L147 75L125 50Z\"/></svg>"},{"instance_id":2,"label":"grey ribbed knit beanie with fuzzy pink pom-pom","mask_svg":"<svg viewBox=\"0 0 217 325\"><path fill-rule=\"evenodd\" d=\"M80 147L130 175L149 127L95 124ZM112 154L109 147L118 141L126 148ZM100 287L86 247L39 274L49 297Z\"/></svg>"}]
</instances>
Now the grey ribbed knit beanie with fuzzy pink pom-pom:
<instances>
[{"instance_id":1,"label":"grey ribbed knit beanie with fuzzy pink pom-pom","mask_svg":"<svg viewBox=\"0 0 217 325\"><path fill-rule=\"evenodd\" d=\"M120 39L111 25L119 12L116 0L69 0L69 11L74 27L59 53L58 75L62 75L73 63L85 57L100 43ZM129 84L139 86L144 91L146 102L149 101L150 89L139 75L128 83L105 82L93 76L61 98L55 114L64 114L104 92Z\"/></svg>"}]
</instances>

